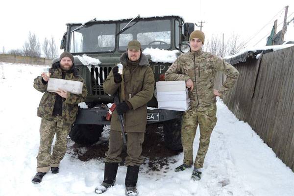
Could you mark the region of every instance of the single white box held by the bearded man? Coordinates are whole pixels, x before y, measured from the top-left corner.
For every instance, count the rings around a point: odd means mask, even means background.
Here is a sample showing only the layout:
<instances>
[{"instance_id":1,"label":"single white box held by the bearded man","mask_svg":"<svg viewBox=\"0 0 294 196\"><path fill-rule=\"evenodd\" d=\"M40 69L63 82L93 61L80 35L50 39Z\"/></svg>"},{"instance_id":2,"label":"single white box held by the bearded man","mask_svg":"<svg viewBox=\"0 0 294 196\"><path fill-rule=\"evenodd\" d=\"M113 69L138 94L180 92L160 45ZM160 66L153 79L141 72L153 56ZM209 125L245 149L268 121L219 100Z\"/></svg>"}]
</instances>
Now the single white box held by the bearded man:
<instances>
[{"instance_id":1,"label":"single white box held by the bearded man","mask_svg":"<svg viewBox=\"0 0 294 196\"><path fill-rule=\"evenodd\" d=\"M82 94L83 83L79 81L50 77L48 80L47 91L57 92L58 89L62 89L64 91L68 91L73 94L79 95L79 94Z\"/></svg>"}]
</instances>

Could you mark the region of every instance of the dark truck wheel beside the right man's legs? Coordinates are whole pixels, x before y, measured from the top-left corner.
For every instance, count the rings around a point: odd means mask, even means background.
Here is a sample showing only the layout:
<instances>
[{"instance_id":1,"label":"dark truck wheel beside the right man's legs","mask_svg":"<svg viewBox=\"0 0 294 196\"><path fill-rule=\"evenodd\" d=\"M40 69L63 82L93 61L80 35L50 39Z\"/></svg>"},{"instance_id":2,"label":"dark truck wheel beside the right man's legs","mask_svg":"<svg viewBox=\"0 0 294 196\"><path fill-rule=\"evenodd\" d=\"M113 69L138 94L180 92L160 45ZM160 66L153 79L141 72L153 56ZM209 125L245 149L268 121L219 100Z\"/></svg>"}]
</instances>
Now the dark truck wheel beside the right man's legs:
<instances>
[{"instance_id":1,"label":"dark truck wheel beside the right man's legs","mask_svg":"<svg viewBox=\"0 0 294 196\"><path fill-rule=\"evenodd\" d=\"M181 126L182 118L163 122L164 143L166 147L175 151L181 151L183 149L181 142Z\"/></svg>"}]
</instances>

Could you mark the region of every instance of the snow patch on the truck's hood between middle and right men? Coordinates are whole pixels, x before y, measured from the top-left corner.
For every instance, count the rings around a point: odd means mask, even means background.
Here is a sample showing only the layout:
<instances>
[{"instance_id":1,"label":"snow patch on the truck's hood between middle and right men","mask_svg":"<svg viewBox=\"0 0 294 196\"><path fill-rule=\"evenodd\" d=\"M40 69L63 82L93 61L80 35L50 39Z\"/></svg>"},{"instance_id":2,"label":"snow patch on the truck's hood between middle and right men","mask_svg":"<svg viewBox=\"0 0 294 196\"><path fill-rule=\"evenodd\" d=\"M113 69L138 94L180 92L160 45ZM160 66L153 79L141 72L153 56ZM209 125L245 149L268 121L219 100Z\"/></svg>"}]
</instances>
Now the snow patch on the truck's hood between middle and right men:
<instances>
[{"instance_id":1,"label":"snow patch on the truck's hood between middle and right men","mask_svg":"<svg viewBox=\"0 0 294 196\"><path fill-rule=\"evenodd\" d=\"M143 50L143 54L150 55L151 60L155 63L173 63L176 58L179 50L165 50L165 49L152 49L147 48Z\"/></svg>"}]
</instances>

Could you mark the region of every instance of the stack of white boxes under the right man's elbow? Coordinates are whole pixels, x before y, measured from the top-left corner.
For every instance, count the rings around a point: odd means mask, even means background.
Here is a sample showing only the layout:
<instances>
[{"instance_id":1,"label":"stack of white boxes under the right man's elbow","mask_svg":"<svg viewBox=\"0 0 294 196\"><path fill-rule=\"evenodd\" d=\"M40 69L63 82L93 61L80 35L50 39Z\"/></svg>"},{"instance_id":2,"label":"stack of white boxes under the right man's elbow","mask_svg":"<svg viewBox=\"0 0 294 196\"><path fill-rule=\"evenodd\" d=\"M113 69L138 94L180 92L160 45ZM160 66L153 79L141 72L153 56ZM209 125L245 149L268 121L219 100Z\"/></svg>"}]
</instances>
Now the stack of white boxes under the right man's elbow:
<instances>
[{"instance_id":1,"label":"stack of white boxes under the right man's elbow","mask_svg":"<svg viewBox=\"0 0 294 196\"><path fill-rule=\"evenodd\" d=\"M158 109L187 111L189 95L185 81L156 82Z\"/></svg>"}]
</instances>

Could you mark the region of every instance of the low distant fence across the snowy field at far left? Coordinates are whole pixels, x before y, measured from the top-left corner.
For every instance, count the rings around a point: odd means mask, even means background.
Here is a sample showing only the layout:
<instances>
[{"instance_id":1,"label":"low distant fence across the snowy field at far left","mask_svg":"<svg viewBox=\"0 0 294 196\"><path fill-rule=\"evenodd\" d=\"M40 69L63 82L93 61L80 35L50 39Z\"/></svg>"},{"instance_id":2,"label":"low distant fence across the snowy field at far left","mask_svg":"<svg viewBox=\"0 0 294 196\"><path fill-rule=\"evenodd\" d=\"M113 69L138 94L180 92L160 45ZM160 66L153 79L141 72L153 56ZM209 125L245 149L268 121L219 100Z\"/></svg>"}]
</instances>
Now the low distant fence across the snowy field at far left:
<instances>
[{"instance_id":1,"label":"low distant fence across the snowy field at far left","mask_svg":"<svg viewBox=\"0 0 294 196\"><path fill-rule=\"evenodd\" d=\"M13 54L0 54L0 62L50 65L52 60L46 58L35 58L30 56L18 56Z\"/></svg>"}]
</instances>

